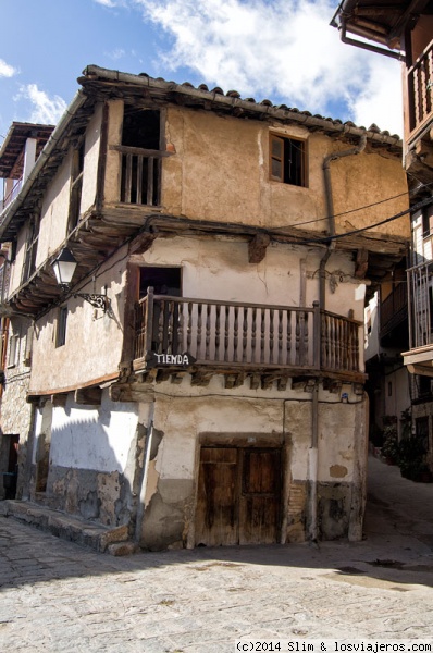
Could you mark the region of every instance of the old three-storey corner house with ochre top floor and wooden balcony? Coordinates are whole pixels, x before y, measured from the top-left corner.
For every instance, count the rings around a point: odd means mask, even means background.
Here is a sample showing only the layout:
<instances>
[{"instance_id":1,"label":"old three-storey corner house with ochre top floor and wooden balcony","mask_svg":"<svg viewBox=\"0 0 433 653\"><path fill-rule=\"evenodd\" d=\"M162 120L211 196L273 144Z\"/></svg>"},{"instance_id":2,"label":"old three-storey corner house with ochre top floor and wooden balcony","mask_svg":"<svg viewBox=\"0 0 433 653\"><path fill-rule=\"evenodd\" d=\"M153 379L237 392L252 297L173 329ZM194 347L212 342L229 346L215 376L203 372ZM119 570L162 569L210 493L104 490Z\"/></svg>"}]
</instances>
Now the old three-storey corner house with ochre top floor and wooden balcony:
<instances>
[{"instance_id":1,"label":"old three-storey corner house with ochre top floor and wooden balcony","mask_svg":"<svg viewBox=\"0 0 433 653\"><path fill-rule=\"evenodd\" d=\"M0 217L3 315L28 326L17 498L150 550L360 539L366 293L409 235L384 222L407 209L398 137L94 65L78 82Z\"/></svg>"}]
</instances>

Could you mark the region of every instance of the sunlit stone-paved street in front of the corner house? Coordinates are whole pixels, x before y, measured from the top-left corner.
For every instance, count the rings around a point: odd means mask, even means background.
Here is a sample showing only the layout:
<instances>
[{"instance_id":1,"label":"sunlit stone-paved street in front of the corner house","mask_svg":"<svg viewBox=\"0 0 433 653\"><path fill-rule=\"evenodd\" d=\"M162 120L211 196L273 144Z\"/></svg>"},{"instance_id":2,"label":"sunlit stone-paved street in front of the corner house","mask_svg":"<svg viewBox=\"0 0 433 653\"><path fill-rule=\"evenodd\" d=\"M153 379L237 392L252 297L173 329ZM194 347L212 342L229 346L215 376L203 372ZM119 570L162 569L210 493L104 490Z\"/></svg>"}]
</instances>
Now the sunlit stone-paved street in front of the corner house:
<instances>
[{"instance_id":1,"label":"sunlit stone-paved street in front of the corner house","mask_svg":"<svg viewBox=\"0 0 433 653\"><path fill-rule=\"evenodd\" d=\"M355 544L117 558L0 516L1 653L224 653L240 638L433 644L433 484L372 466L367 539ZM394 498L409 490L407 515Z\"/></svg>"}]
</instances>

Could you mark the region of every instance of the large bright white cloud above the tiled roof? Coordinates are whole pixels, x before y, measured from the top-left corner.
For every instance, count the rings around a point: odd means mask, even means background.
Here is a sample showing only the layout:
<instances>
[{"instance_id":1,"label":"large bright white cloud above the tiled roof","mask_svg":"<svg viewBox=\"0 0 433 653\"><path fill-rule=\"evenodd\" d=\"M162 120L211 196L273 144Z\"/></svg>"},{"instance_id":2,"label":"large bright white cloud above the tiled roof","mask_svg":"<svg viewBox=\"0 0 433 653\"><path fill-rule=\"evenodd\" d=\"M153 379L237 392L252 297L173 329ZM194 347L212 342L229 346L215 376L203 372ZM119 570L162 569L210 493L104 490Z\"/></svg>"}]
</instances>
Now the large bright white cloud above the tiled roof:
<instances>
[{"instance_id":1,"label":"large bright white cloud above the tiled roof","mask_svg":"<svg viewBox=\"0 0 433 653\"><path fill-rule=\"evenodd\" d=\"M224 90L401 133L399 66L339 41L330 26L336 0L129 3L172 37L160 53L168 70L187 66ZM342 104L346 114L335 114Z\"/></svg>"}]
</instances>

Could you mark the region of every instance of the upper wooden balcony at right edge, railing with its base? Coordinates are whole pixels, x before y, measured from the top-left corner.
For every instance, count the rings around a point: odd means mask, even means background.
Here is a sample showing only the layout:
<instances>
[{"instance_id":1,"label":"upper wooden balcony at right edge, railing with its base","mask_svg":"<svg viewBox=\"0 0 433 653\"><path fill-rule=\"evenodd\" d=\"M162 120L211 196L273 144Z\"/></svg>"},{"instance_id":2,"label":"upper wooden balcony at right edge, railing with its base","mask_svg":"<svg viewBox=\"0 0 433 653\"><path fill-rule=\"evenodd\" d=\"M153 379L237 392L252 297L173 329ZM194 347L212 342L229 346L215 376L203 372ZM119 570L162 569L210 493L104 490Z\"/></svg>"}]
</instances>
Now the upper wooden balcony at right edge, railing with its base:
<instances>
[{"instance_id":1,"label":"upper wooden balcony at right edge, railing with its base","mask_svg":"<svg viewBox=\"0 0 433 653\"><path fill-rule=\"evenodd\" d=\"M433 40L406 71L405 140L408 150L428 156L422 141L431 144L433 122Z\"/></svg>"}]
</instances>

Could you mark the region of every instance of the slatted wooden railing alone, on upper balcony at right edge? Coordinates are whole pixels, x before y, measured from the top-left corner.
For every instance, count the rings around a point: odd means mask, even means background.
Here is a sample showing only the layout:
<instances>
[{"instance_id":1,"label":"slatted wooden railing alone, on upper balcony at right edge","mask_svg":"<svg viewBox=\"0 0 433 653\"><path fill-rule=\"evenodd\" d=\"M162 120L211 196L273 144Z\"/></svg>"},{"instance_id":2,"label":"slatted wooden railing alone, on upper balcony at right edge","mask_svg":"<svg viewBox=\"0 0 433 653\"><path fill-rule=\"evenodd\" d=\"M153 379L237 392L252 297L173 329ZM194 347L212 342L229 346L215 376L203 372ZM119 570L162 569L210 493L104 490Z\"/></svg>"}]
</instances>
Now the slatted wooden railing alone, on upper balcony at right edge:
<instances>
[{"instance_id":1,"label":"slatted wooden railing alone, on upper balcony at right edge","mask_svg":"<svg viewBox=\"0 0 433 653\"><path fill-rule=\"evenodd\" d=\"M409 138L413 140L432 118L433 40L407 72Z\"/></svg>"}]
</instances>

